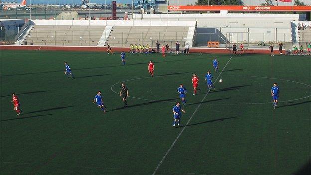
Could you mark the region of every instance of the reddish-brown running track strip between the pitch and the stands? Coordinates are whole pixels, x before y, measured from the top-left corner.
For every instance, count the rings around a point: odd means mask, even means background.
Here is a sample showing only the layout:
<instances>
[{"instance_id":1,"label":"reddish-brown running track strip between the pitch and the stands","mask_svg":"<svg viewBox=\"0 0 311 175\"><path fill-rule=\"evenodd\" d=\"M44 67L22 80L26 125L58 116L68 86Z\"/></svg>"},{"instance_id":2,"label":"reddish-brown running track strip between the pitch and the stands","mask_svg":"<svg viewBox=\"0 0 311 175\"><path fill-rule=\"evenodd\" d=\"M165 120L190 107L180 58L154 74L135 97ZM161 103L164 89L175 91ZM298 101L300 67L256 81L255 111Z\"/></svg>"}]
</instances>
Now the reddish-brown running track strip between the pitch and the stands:
<instances>
[{"instance_id":1,"label":"reddish-brown running track strip between the pitch and the stands","mask_svg":"<svg viewBox=\"0 0 311 175\"><path fill-rule=\"evenodd\" d=\"M0 45L0 50L54 50L54 51L98 51L106 52L107 47L81 47L81 46L33 46L33 45ZM114 52L129 52L129 47L112 47ZM229 49L221 48L191 48L190 53L228 53ZM247 49L244 53L247 54L269 54L269 49ZM279 53L274 50L274 53ZM242 52L243 54L243 52Z\"/></svg>"}]
</instances>

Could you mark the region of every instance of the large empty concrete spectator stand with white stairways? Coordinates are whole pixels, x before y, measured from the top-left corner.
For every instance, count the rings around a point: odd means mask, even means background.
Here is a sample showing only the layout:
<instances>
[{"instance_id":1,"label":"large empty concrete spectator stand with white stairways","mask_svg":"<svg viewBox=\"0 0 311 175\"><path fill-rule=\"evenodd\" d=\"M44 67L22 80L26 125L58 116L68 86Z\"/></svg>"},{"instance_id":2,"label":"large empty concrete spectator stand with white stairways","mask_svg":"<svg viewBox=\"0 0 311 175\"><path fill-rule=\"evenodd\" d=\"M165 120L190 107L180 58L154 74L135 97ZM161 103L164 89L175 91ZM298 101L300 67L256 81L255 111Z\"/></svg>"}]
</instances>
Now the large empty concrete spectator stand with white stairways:
<instances>
[{"instance_id":1,"label":"large empty concrete spectator stand with white stairways","mask_svg":"<svg viewBox=\"0 0 311 175\"><path fill-rule=\"evenodd\" d=\"M196 21L76 21L31 20L23 27L15 45L129 47L130 44L192 45Z\"/></svg>"}]
</instances>

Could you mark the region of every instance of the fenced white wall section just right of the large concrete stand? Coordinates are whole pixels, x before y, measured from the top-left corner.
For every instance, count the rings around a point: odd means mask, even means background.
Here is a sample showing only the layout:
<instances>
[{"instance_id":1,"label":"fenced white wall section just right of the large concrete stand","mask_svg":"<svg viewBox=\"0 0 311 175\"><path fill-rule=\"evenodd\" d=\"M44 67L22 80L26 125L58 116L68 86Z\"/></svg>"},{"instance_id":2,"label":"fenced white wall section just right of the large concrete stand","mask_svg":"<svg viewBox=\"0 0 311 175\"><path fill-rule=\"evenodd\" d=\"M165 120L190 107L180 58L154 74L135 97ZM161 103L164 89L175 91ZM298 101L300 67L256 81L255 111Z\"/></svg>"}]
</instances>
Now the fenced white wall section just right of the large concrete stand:
<instances>
[{"instance_id":1,"label":"fenced white wall section just right of the large concrete stand","mask_svg":"<svg viewBox=\"0 0 311 175\"><path fill-rule=\"evenodd\" d=\"M244 48L268 48L282 42L283 48L291 49L293 45L290 28L205 27L196 31L196 47L209 47L208 42L219 43L213 47L220 48L230 48L233 43L243 44Z\"/></svg>"}]
</instances>

